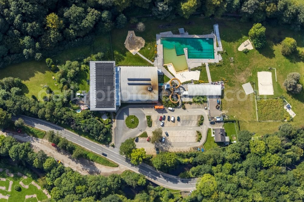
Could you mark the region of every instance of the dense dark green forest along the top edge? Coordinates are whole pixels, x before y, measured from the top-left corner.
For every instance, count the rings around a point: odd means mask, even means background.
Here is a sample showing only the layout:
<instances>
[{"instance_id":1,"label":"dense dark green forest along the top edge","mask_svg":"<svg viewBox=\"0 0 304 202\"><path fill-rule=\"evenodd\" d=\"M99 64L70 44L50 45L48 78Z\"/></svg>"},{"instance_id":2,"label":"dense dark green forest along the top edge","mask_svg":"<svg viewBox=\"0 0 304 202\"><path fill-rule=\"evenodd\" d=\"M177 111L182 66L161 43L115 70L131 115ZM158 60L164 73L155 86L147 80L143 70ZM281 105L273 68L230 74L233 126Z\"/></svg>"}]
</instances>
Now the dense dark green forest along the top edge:
<instances>
[{"instance_id":1,"label":"dense dark green forest along the top edge","mask_svg":"<svg viewBox=\"0 0 304 202\"><path fill-rule=\"evenodd\" d=\"M195 14L267 20L295 30L304 25L302 0L0 0L0 68L47 58L136 22L135 17L171 20Z\"/></svg>"}]
</instances>

